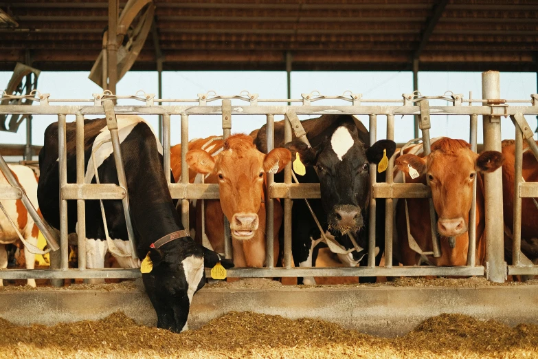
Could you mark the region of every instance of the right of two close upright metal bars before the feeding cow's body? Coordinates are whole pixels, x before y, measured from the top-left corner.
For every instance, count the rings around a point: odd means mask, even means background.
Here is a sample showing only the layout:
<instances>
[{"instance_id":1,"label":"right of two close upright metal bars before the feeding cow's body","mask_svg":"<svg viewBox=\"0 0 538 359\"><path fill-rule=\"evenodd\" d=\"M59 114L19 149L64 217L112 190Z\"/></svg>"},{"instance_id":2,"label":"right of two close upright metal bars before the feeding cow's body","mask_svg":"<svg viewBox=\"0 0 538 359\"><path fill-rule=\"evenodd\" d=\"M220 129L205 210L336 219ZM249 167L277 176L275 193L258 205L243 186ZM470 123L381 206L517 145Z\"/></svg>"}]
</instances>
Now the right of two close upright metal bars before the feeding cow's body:
<instances>
[{"instance_id":1,"label":"right of two close upright metal bars before the feeding cow's body","mask_svg":"<svg viewBox=\"0 0 538 359\"><path fill-rule=\"evenodd\" d=\"M76 116L76 183L84 184L84 116ZM77 199L77 244L78 244L78 269L86 269L86 202ZM68 257L69 261L69 257Z\"/></svg>"}]
</instances>

